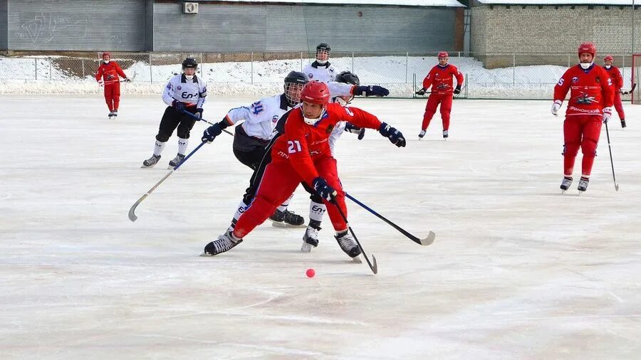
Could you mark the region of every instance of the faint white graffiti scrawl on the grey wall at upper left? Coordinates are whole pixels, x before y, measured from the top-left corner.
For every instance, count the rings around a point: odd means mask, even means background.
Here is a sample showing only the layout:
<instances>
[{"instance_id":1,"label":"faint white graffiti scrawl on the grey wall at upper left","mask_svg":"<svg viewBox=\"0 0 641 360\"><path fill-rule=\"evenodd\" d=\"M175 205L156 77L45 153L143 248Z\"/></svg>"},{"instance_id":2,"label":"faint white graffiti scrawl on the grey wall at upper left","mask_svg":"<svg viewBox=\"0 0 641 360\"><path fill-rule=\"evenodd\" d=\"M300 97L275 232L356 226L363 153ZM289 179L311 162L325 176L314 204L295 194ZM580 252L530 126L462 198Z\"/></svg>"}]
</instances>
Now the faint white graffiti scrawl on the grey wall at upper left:
<instances>
[{"instance_id":1,"label":"faint white graffiti scrawl on the grey wall at upper left","mask_svg":"<svg viewBox=\"0 0 641 360\"><path fill-rule=\"evenodd\" d=\"M68 29L73 28L73 38L85 38L88 33L87 18L67 14L51 14L41 12L33 18L21 21L17 35L21 40L31 43L49 43L56 36L68 36Z\"/></svg>"}]
</instances>

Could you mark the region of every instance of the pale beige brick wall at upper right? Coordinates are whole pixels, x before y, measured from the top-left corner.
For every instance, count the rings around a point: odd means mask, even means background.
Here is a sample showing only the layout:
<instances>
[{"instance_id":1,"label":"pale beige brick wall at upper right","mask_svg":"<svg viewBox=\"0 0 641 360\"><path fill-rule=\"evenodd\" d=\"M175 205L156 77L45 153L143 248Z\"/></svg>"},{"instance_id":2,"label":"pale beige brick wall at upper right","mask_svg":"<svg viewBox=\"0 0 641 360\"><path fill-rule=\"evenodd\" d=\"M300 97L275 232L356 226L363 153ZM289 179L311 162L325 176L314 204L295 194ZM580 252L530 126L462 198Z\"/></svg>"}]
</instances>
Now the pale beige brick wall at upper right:
<instances>
[{"instance_id":1,"label":"pale beige brick wall at upper right","mask_svg":"<svg viewBox=\"0 0 641 360\"><path fill-rule=\"evenodd\" d=\"M641 53L641 10L635 13L635 52ZM471 8L470 51L490 63L496 53L574 53L583 41L595 43L600 54L631 53L631 6Z\"/></svg>"}]
</instances>

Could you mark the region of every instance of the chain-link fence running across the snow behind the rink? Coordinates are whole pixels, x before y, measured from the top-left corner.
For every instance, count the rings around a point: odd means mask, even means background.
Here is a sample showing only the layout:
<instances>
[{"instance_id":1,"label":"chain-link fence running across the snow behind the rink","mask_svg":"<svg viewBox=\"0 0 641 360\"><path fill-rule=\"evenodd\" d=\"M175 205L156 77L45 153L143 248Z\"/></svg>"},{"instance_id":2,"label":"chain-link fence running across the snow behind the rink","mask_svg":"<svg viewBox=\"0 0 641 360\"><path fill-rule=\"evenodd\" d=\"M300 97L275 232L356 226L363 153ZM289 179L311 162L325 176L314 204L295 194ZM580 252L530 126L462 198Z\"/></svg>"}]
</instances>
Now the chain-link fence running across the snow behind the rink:
<instances>
[{"instance_id":1,"label":"chain-link fence running across the snow behind the rink","mask_svg":"<svg viewBox=\"0 0 641 360\"><path fill-rule=\"evenodd\" d=\"M330 62L336 70L350 70L363 85L390 88L392 96L415 97L422 80L437 64L437 53L338 53ZM624 83L631 85L631 55L613 54ZM199 62L198 75L219 95L268 95L281 91L291 70L303 70L314 53L114 53L113 60L134 79L124 92L157 93L172 75L181 72L184 58ZM568 66L578 62L573 54L450 53L449 63L464 74L460 97L496 99L551 99L553 87ZM21 83L20 88L43 92L99 92L95 71L100 53L87 57L0 57L0 81ZM603 64L603 56L595 59ZM0 92L11 92L11 87ZM58 91L54 90L58 89ZM67 91L64 91L64 90ZM77 91L74 91L77 90Z\"/></svg>"}]
</instances>

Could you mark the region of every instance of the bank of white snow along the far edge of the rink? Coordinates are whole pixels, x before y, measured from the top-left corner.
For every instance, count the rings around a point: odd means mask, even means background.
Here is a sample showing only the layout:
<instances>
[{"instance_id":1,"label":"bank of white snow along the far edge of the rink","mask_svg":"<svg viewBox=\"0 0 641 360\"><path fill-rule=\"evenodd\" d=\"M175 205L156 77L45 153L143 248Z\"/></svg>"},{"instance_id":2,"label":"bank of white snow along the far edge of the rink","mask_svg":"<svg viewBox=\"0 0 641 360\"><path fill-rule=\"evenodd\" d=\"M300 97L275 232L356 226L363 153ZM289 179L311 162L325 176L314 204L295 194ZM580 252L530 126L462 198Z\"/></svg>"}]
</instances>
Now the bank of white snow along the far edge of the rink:
<instances>
[{"instance_id":1,"label":"bank of white snow along the far edge of the rink","mask_svg":"<svg viewBox=\"0 0 641 360\"><path fill-rule=\"evenodd\" d=\"M504 55L511 63L512 55ZM551 58L567 58L568 55L551 55ZM120 59L116 59L120 60ZM518 63L528 60L519 55ZM224 96L254 96L278 92L283 78L291 70L300 71L311 59L286 59L268 61L244 61L227 63L202 63L199 76L209 82L209 93ZM570 56L568 63L574 61ZM434 56L375 56L336 57L331 62L338 71L350 70L360 77L361 83L384 85L394 97L412 97L414 84L420 88L425 75L438 63ZM91 75L97 60L33 56L25 58L0 57L0 94L87 94L103 91ZM456 65L466 75L462 93L469 98L503 99L551 99L553 88L566 66L531 65L486 69L475 58L458 57L452 54L449 63ZM61 65L64 64L64 65ZM620 65L617 63L617 65ZM66 66L67 68L61 68ZM124 94L156 94L172 75L180 71L180 64L153 65L137 61L125 68L133 77L133 83L124 84ZM620 69L625 88L631 83L630 68ZM78 74L87 74L85 78ZM416 80L415 80L416 76ZM624 100L627 100L625 98Z\"/></svg>"}]
</instances>

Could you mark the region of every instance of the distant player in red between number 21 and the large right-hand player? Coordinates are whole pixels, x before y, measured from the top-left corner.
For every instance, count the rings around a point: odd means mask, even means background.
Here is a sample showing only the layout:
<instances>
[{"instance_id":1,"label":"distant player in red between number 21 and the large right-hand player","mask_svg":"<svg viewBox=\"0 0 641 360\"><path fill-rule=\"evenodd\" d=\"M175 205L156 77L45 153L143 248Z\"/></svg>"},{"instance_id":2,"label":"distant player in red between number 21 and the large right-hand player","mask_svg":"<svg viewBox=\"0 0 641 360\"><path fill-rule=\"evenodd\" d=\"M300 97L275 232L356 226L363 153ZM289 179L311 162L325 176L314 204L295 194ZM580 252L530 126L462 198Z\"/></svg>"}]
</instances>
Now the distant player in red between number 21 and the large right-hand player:
<instances>
[{"instance_id":1,"label":"distant player in red between number 21 and the large right-hand player","mask_svg":"<svg viewBox=\"0 0 641 360\"><path fill-rule=\"evenodd\" d=\"M452 94L461 92L461 85L463 85L463 74L456 66L447 63L447 60L449 60L447 52L441 51L438 58L438 65L434 66L432 70L429 70L429 73L423 79L423 88L416 92L418 95L424 95L427 88L432 86L432 93L429 94L427 105L425 105L419 139L425 136L425 131L434 113L436 113L436 108L439 104L441 104L441 119L443 120L443 138L449 136L449 112L452 111ZM452 87L453 78L457 78L456 88Z\"/></svg>"}]
</instances>

